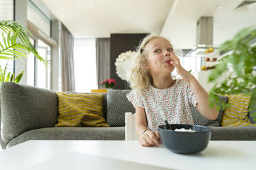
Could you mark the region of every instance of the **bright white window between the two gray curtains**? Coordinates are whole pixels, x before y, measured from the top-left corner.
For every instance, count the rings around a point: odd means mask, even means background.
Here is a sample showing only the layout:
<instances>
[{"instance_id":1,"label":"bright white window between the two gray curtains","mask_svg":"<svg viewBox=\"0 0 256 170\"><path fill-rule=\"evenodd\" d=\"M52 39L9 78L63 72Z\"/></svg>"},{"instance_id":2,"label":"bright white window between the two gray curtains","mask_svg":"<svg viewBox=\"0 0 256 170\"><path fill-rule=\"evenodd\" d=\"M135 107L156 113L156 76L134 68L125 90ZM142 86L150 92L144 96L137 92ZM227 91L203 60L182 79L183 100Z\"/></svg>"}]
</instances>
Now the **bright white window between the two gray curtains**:
<instances>
[{"instance_id":1,"label":"bright white window between the two gray curtains","mask_svg":"<svg viewBox=\"0 0 256 170\"><path fill-rule=\"evenodd\" d=\"M77 92L98 88L95 39L74 39L74 74Z\"/></svg>"}]
</instances>

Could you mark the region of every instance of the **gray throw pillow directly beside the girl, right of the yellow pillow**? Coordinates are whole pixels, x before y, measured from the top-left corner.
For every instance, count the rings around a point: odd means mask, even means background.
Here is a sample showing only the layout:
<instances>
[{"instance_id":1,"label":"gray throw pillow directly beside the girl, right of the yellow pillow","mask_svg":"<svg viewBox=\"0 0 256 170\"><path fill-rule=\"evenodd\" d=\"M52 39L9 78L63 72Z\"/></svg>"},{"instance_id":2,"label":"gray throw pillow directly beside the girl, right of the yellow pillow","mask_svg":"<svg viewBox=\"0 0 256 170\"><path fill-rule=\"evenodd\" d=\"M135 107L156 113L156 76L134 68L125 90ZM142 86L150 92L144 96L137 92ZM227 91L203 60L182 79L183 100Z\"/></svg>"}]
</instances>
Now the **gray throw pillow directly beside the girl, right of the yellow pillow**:
<instances>
[{"instance_id":1,"label":"gray throw pillow directly beside the girl, right of the yellow pillow","mask_svg":"<svg viewBox=\"0 0 256 170\"><path fill-rule=\"evenodd\" d=\"M135 112L126 94L131 90L107 90L107 124L125 126L125 112Z\"/></svg>"}]
</instances>

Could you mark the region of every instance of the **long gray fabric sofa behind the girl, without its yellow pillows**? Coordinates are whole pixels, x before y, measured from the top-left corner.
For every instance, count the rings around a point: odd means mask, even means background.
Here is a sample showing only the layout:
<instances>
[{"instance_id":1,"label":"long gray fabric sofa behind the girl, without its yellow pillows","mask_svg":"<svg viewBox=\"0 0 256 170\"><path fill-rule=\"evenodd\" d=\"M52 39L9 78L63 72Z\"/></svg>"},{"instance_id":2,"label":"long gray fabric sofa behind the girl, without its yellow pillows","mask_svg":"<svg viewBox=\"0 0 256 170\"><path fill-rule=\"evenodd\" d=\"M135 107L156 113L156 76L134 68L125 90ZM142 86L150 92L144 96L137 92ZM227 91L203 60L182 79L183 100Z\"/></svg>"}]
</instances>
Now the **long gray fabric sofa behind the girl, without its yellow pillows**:
<instances>
[{"instance_id":1,"label":"long gray fabric sofa behind the girl, without its yellow pillows","mask_svg":"<svg viewBox=\"0 0 256 170\"><path fill-rule=\"evenodd\" d=\"M103 94L103 113L110 127L54 127L58 117L58 97L54 91L3 83L1 147L12 147L28 140L125 140L125 112L135 111L125 97L129 91L109 90ZM200 113L193 109L195 124L220 125L221 112L219 120L209 122L202 121ZM256 127L212 128L211 140L256 140Z\"/></svg>"}]
</instances>

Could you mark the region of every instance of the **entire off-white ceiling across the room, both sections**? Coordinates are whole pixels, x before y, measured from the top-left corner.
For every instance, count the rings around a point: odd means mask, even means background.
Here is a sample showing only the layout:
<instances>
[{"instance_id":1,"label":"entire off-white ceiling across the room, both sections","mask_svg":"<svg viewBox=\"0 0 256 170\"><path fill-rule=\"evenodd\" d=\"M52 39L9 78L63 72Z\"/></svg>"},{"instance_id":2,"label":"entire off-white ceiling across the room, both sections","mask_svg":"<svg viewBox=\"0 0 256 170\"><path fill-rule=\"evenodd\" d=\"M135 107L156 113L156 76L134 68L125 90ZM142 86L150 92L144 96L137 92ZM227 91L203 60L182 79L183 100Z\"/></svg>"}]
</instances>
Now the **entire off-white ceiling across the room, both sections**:
<instances>
[{"instance_id":1,"label":"entire off-white ceiling across the room, both sections","mask_svg":"<svg viewBox=\"0 0 256 170\"><path fill-rule=\"evenodd\" d=\"M175 48L195 46L200 16L213 16L213 43L220 45L256 25L256 3L244 0L32 0L41 2L75 38L109 37L118 33L156 33ZM250 1L250 0L249 0Z\"/></svg>"}]
</instances>

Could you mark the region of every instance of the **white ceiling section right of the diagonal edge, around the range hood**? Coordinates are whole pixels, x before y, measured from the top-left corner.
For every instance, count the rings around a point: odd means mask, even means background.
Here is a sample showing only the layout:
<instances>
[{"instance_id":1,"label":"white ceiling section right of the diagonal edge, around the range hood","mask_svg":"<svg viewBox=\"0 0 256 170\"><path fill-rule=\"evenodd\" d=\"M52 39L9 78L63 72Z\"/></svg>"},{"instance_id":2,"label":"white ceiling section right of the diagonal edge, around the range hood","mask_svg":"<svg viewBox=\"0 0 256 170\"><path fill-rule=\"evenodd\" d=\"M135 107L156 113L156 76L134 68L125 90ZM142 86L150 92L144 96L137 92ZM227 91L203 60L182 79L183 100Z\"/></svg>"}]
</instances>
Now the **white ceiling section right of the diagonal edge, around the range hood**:
<instances>
[{"instance_id":1,"label":"white ceiling section right of the diagonal edge, around the range hood","mask_svg":"<svg viewBox=\"0 0 256 170\"><path fill-rule=\"evenodd\" d=\"M242 0L175 0L160 36L176 49L195 47L196 23L200 16L213 16L213 45L220 45L243 27L256 25L256 3L234 10ZM218 9L215 6L221 5Z\"/></svg>"}]
</instances>

